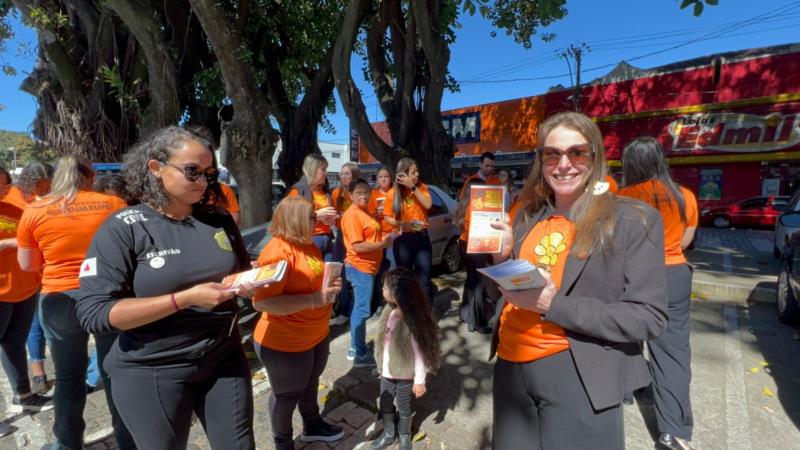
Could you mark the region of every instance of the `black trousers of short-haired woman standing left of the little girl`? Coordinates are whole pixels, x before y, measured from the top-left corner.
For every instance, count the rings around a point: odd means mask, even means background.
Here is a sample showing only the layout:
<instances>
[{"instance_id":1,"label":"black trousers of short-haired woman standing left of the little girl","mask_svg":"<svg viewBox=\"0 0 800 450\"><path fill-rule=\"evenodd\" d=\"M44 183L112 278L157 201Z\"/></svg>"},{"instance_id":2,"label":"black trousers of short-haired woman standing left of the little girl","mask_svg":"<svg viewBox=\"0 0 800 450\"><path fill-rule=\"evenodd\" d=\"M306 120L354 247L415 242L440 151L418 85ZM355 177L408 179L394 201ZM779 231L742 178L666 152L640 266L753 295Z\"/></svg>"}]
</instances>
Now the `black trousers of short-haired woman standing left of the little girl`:
<instances>
[{"instance_id":1,"label":"black trousers of short-haired woman standing left of the little girl","mask_svg":"<svg viewBox=\"0 0 800 450\"><path fill-rule=\"evenodd\" d=\"M272 387L269 396L272 435L278 440L291 440L295 406L304 424L319 418L317 393L319 377L328 364L328 338L304 352L281 352L256 343L256 353L267 369Z\"/></svg>"}]
</instances>

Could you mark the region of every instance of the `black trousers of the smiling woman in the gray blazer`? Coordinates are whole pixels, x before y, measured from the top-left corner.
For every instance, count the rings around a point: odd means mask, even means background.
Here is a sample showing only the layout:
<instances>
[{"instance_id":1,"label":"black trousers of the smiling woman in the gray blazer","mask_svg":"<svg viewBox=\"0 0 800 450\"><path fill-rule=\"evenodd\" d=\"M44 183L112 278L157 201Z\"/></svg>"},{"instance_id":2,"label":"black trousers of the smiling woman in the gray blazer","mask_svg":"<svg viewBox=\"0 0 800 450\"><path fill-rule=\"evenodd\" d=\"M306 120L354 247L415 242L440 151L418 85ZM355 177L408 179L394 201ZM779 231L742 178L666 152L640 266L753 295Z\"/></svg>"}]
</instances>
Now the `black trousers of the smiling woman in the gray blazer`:
<instances>
[{"instance_id":1,"label":"black trousers of the smiling woman in the gray blazer","mask_svg":"<svg viewBox=\"0 0 800 450\"><path fill-rule=\"evenodd\" d=\"M567 351L528 363L494 365L495 450L625 448L622 408L592 408Z\"/></svg>"}]
</instances>

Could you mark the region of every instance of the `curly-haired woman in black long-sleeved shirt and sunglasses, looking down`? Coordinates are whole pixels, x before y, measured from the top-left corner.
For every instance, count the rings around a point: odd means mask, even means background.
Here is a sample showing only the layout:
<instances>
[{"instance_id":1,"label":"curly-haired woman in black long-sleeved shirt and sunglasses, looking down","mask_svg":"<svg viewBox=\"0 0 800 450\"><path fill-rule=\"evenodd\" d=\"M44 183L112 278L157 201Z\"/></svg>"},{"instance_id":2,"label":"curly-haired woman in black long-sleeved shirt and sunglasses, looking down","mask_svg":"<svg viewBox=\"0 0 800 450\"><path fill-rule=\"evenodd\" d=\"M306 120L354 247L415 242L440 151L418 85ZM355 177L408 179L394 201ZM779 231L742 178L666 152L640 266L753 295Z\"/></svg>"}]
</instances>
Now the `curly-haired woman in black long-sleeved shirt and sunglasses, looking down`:
<instances>
[{"instance_id":1,"label":"curly-haired woman in black long-sleeved shirt and sunglasses, looking down","mask_svg":"<svg viewBox=\"0 0 800 450\"><path fill-rule=\"evenodd\" d=\"M78 318L119 331L105 368L140 449L186 448L194 412L212 448L253 449L250 371L227 275L250 268L239 229L219 202L208 141L156 131L125 157L141 204L116 212L81 265Z\"/></svg>"}]
</instances>

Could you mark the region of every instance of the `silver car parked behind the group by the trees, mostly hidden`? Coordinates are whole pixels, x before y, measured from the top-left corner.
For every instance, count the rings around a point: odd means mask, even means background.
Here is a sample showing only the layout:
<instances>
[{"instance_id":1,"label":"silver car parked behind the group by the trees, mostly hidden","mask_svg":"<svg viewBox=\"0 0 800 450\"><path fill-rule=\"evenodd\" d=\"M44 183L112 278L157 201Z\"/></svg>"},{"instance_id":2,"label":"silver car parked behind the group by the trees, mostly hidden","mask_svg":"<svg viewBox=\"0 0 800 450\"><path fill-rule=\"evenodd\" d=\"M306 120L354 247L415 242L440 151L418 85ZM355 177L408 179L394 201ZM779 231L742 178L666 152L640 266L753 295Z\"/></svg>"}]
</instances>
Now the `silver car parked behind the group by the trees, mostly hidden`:
<instances>
[{"instance_id":1,"label":"silver car parked behind the group by the trees, mostly hidden","mask_svg":"<svg viewBox=\"0 0 800 450\"><path fill-rule=\"evenodd\" d=\"M433 249L431 264L444 273L453 273L461 268L462 254L458 247L461 230L453 223L457 202L436 186L428 186L433 204L428 211L428 235ZM242 230L247 251L253 259L272 238L269 223Z\"/></svg>"}]
</instances>

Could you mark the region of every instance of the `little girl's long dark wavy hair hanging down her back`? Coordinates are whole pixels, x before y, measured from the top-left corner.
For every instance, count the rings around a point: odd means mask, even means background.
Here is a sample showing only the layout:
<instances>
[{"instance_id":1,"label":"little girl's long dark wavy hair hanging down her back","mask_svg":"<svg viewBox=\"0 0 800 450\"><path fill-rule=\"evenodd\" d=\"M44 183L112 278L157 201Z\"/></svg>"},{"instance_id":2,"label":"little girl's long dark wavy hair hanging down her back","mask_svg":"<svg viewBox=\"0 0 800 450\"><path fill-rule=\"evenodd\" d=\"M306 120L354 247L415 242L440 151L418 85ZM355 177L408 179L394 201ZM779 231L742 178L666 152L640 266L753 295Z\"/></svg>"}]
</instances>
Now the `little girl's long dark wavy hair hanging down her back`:
<instances>
[{"instance_id":1,"label":"little girl's long dark wavy hair hanging down her back","mask_svg":"<svg viewBox=\"0 0 800 450\"><path fill-rule=\"evenodd\" d=\"M383 276L383 285L389 289L411 336L417 341L425 366L431 373L439 370L441 348L439 327L433 320L432 302L422 292L417 274L405 267L392 269ZM392 306L387 302L387 306Z\"/></svg>"}]
</instances>

